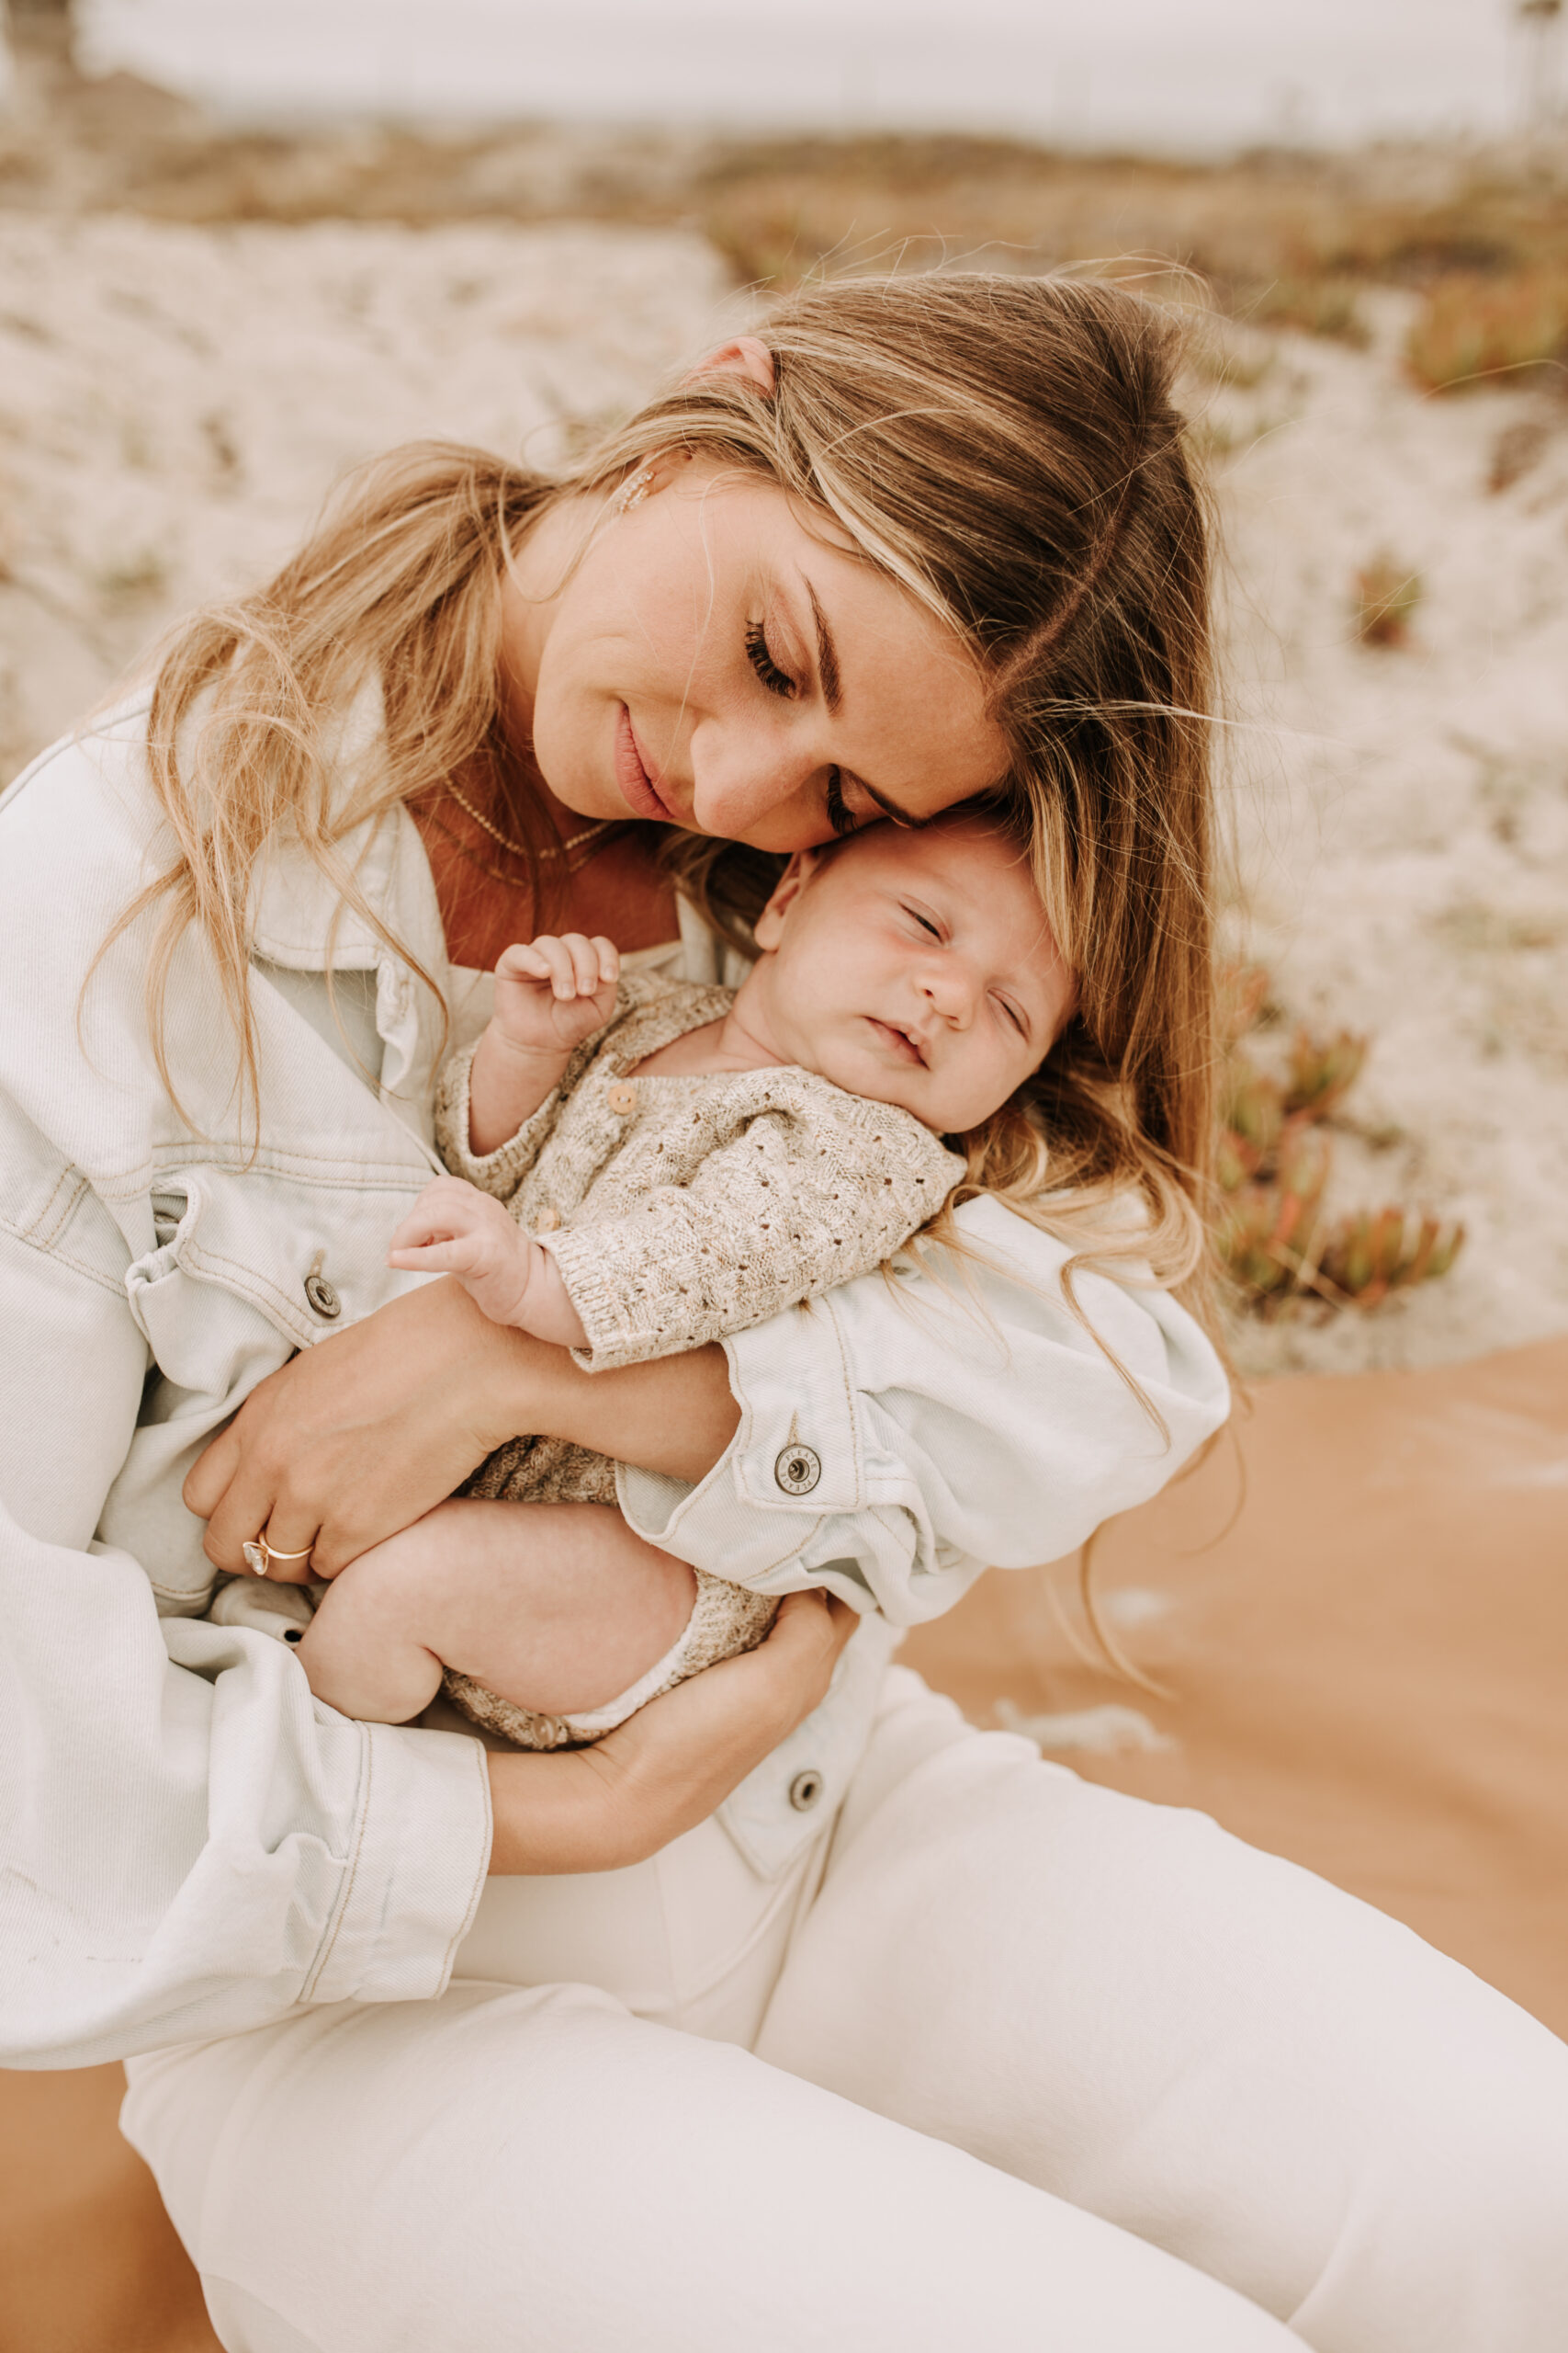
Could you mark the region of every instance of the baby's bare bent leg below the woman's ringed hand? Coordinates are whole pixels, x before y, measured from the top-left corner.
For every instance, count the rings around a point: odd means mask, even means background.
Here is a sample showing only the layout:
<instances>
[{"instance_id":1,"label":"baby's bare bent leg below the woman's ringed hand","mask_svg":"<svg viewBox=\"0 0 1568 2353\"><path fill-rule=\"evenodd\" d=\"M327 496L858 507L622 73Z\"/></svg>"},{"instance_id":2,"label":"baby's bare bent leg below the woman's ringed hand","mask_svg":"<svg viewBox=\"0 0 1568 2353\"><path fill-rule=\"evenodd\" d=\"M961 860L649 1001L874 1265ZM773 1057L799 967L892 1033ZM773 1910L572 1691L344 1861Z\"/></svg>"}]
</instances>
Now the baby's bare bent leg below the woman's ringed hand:
<instances>
[{"instance_id":1,"label":"baby's bare bent leg below the woman's ringed hand","mask_svg":"<svg viewBox=\"0 0 1568 2353\"><path fill-rule=\"evenodd\" d=\"M299 1657L317 1699L402 1725L442 1668L541 1715L609 1706L675 1645L696 1579L609 1504L454 1497L353 1560Z\"/></svg>"}]
</instances>

